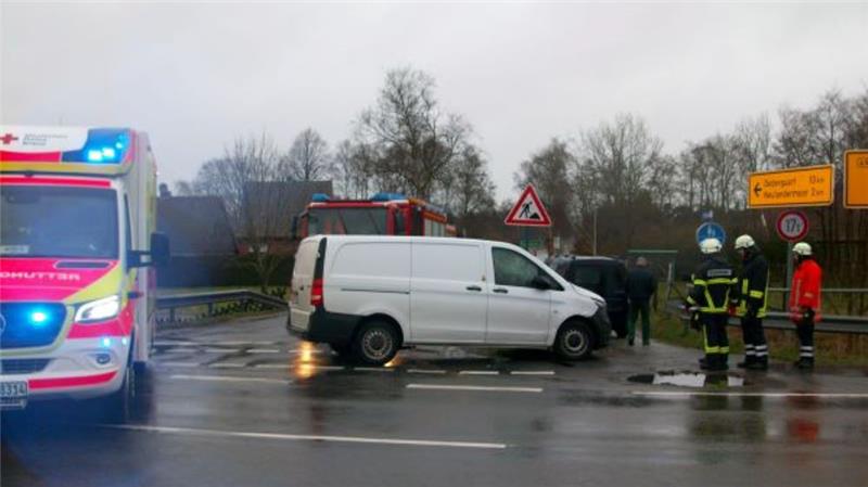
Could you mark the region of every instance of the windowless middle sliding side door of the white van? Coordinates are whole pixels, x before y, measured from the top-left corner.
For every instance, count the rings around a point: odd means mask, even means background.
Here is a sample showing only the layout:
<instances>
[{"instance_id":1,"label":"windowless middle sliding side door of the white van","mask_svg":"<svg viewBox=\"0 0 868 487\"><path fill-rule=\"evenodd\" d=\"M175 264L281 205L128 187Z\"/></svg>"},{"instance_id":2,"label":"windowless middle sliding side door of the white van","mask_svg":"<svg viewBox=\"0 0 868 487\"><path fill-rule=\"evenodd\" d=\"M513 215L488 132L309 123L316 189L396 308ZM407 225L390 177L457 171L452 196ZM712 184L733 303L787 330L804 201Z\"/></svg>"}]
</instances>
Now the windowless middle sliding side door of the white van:
<instances>
[{"instance_id":1,"label":"windowless middle sliding side door of the white van","mask_svg":"<svg viewBox=\"0 0 868 487\"><path fill-rule=\"evenodd\" d=\"M488 294L478 242L413 241L410 331L413 343L482 343Z\"/></svg>"}]
</instances>

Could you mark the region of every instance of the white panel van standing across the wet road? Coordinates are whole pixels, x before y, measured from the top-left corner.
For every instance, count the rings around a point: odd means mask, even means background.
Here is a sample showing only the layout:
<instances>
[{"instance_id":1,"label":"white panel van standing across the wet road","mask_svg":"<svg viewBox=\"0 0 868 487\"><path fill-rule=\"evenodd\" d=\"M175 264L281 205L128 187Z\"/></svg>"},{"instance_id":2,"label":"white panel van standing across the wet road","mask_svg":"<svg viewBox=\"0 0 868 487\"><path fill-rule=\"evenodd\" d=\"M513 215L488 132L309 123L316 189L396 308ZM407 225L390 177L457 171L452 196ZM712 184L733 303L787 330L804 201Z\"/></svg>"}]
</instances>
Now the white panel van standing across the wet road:
<instances>
[{"instance_id":1,"label":"white panel van standing across the wet road","mask_svg":"<svg viewBox=\"0 0 868 487\"><path fill-rule=\"evenodd\" d=\"M575 360L611 332L600 296L515 245L379 235L302 241L288 328L371 364L423 344L552 348Z\"/></svg>"}]
</instances>

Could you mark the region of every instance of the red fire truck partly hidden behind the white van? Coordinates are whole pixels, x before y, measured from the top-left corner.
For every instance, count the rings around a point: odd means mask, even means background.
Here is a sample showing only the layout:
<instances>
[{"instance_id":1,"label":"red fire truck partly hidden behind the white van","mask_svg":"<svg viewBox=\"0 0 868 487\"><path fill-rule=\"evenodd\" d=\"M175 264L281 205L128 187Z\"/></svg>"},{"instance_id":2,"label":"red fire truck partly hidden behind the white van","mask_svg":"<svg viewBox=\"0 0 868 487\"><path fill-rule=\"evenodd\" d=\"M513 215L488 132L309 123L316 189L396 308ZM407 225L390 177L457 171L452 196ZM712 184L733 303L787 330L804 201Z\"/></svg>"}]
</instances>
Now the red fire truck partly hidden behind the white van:
<instances>
[{"instance_id":1,"label":"red fire truck partly hidden behind the white van","mask_svg":"<svg viewBox=\"0 0 868 487\"><path fill-rule=\"evenodd\" d=\"M316 234L455 236L446 212L398 193L376 193L369 200L332 200L315 194L294 221L301 239Z\"/></svg>"}]
</instances>

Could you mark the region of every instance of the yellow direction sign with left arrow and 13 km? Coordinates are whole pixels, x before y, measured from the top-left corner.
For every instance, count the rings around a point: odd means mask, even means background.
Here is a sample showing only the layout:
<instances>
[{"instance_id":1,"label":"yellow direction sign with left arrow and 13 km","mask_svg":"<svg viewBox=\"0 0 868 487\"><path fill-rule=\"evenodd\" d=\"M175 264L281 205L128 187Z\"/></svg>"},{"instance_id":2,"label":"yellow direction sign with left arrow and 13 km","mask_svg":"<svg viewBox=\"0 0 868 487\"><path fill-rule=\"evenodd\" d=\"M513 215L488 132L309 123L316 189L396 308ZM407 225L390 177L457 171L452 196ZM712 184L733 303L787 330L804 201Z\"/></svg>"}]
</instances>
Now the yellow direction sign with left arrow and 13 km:
<instances>
[{"instance_id":1,"label":"yellow direction sign with left arrow and 13 km","mask_svg":"<svg viewBox=\"0 0 868 487\"><path fill-rule=\"evenodd\" d=\"M831 165L752 172L748 177L748 207L829 206L834 201Z\"/></svg>"}]
</instances>

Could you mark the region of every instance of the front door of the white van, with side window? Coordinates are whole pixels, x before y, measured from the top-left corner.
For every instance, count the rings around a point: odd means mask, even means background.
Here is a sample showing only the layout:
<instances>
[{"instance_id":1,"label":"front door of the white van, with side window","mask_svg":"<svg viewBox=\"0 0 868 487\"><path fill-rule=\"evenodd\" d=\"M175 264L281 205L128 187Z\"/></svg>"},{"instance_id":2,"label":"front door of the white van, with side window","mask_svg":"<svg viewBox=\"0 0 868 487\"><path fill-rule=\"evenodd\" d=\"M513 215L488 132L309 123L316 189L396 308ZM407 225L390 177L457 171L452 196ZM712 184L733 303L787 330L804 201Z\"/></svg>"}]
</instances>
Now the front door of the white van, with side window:
<instances>
[{"instance_id":1,"label":"front door of the white van, with side window","mask_svg":"<svg viewBox=\"0 0 868 487\"><path fill-rule=\"evenodd\" d=\"M486 343L545 344L549 336L552 292L536 289L532 281L537 275L551 278L533 260L507 247L492 246L488 257Z\"/></svg>"}]
</instances>

